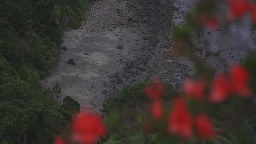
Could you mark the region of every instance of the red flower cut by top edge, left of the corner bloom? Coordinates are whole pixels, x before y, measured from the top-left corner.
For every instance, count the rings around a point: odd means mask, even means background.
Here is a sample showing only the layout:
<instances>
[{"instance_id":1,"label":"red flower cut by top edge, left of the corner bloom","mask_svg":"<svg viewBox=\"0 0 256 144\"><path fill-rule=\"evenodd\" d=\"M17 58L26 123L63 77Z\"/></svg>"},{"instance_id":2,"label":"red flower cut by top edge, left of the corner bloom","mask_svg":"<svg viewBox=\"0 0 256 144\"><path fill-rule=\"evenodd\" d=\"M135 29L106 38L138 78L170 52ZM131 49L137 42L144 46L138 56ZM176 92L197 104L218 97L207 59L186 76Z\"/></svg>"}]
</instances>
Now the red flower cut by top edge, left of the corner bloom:
<instances>
[{"instance_id":1,"label":"red flower cut by top edge, left of the corner bloom","mask_svg":"<svg viewBox=\"0 0 256 144\"><path fill-rule=\"evenodd\" d=\"M230 0L229 6L232 18L242 16L250 10L250 4L247 0Z\"/></svg>"}]
</instances>

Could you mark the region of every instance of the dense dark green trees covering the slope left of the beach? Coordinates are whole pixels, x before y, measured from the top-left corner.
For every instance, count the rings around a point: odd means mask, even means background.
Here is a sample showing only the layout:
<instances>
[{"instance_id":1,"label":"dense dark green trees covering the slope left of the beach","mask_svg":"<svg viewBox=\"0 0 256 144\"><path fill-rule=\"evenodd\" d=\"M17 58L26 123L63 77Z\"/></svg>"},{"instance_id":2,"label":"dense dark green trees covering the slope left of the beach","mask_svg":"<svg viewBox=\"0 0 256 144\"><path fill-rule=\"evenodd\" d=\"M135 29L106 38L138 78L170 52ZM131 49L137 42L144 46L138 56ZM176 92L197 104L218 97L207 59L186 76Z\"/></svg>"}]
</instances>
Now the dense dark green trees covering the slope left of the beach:
<instances>
[{"instance_id":1,"label":"dense dark green trees covering the slope left of the beach","mask_svg":"<svg viewBox=\"0 0 256 144\"><path fill-rule=\"evenodd\" d=\"M54 99L40 79L58 62L63 30L78 28L91 0L3 0L0 5L0 142L51 144L80 105Z\"/></svg>"}]
</instances>

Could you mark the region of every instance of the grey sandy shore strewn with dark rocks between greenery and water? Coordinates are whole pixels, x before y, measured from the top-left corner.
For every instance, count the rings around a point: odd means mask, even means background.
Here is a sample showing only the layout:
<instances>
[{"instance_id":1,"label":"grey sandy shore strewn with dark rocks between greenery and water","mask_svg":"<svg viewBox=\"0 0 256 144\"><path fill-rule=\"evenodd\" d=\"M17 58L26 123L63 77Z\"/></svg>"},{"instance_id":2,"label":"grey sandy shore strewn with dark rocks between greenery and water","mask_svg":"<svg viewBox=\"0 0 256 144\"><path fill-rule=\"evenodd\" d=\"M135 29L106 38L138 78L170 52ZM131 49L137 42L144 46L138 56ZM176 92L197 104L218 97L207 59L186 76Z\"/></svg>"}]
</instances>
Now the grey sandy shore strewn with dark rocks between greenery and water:
<instances>
[{"instance_id":1,"label":"grey sandy shore strewn with dark rocks between greenery and water","mask_svg":"<svg viewBox=\"0 0 256 144\"><path fill-rule=\"evenodd\" d=\"M170 57L173 0L100 0L78 30L65 32L59 65L42 83L59 82L61 94L100 112L108 96L127 85L160 77L180 88L192 68Z\"/></svg>"}]
</instances>

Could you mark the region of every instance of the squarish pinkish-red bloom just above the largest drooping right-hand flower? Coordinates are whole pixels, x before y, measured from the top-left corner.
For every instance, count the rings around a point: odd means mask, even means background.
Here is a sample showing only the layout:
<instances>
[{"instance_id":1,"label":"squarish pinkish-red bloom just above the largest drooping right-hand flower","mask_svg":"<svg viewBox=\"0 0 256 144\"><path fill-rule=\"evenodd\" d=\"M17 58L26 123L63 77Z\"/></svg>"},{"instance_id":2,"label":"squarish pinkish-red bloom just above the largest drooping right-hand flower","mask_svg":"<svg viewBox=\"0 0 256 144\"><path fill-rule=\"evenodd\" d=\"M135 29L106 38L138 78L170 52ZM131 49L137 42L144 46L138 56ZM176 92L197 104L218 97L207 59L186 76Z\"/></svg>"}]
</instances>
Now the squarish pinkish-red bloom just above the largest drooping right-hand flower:
<instances>
[{"instance_id":1,"label":"squarish pinkish-red bloom just above the largest drooping right-hand flower","mask_svg":"<svg viewBox=\"0 0 256 144\"><path fill-rule=\"evenodd\" d=\"M186 96L203 99L205 92L205 82L195 80L185 80L183 83L183 90Z\"/></svg>"}]
</instances>

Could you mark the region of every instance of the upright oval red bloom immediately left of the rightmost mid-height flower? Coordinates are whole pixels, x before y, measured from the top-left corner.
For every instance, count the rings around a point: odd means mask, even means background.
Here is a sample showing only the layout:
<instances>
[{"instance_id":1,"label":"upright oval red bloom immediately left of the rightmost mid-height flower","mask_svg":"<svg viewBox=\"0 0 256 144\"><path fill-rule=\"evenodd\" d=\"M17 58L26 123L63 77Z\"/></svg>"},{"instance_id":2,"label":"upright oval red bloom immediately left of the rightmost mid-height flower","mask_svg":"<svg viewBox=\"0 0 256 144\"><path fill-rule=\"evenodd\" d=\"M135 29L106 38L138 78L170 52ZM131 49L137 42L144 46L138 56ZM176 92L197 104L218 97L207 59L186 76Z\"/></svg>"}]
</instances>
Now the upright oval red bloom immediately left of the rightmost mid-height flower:
<instances>
[{"instance_id":1,"label":"upright oval red bloom immediately left of the rightmost mid-height flower","mask_svg":"<svg viewBox=\"0 0 256 144\"><path fill-rule=\"evenodd\" d=\"M224 101L230 93L229 80L224 74L216 77L211 86L210 101L218 103Z\"/></svg>"}]
</instances>

